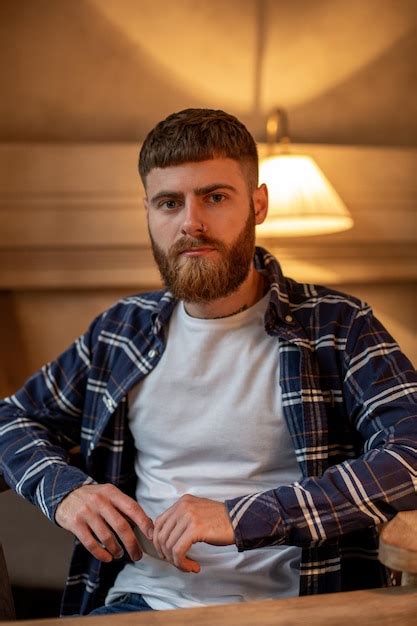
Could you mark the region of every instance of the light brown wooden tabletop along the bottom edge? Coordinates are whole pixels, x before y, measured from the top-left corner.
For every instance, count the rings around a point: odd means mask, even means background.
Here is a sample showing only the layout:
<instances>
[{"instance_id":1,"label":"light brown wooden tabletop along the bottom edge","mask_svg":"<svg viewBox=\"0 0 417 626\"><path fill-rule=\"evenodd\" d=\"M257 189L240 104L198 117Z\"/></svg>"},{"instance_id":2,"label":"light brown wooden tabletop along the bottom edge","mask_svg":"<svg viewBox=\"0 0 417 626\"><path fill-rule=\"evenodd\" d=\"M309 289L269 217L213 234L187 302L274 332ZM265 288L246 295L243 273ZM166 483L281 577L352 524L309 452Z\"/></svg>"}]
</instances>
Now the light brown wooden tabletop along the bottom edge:
<instances>
[{"instance_id":1,"label":"light brown wooden tabletop along the bottom edge","mask_svg":"<svg viewBox=\"0 0 417 626\"><path fill-rule=\"evenodd\" d=\"M417 590L393 587L198 609L29 620L33 626L417 626ZM16 622L1 622L16 626Z\"/></svg>"}]
</instances>

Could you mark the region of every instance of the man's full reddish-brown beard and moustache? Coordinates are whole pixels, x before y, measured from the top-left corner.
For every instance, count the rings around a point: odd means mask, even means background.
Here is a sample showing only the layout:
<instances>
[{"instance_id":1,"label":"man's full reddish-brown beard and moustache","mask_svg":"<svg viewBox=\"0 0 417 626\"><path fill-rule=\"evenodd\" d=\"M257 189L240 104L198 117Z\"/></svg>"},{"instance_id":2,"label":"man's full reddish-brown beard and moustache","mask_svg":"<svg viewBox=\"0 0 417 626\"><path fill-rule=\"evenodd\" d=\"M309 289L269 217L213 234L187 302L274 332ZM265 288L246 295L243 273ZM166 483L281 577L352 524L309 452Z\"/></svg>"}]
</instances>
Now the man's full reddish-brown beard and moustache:
<instances>
[{"instance_id":1,"label":"man's full reddish-brown beard and moustache","mask_svg":"<svg viewBox=\"0 0 417 626\"><path fill-rule=\"evenodd\" d=\"M249 274L255 251L254 206L251 202L246 223L230 245L205 235L184 236L165 253L150 231L149 236L162 280L174 297L190 303L211 302L236 291ZM204 244L215 248L217 258L181 257L185 250Z\"/></svg>"}]
</instances>

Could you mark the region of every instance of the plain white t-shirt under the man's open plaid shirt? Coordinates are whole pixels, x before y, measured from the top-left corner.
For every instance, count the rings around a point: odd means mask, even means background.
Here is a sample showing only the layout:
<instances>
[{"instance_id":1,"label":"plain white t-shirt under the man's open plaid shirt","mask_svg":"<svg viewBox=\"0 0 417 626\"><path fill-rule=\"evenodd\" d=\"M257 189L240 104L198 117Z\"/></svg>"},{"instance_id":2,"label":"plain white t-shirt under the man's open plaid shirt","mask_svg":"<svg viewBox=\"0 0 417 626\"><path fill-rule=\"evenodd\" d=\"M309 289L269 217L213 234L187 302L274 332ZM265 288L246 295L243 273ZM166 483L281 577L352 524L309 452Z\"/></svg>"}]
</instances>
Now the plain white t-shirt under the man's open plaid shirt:
<instances>
[{"instance_id":1,"label":"plain white t-shirt under the man's open plaid shirt","mask_svg":"<svg viewBox=\"0 0 417 626\"><path fill-rule=\"evenodd\" d=\"M193 318L178 304L160 362L129 393L136 497L152 519L185 493L224 501L301 478L282 414L278 340L264 329L268 299L221 319ZM188 555L201 571L189 574L139 539L144 555L123 568L107 603L127 592L154 609L298 594L300 548L199 543Z\"/></svg>"}]
</instances>

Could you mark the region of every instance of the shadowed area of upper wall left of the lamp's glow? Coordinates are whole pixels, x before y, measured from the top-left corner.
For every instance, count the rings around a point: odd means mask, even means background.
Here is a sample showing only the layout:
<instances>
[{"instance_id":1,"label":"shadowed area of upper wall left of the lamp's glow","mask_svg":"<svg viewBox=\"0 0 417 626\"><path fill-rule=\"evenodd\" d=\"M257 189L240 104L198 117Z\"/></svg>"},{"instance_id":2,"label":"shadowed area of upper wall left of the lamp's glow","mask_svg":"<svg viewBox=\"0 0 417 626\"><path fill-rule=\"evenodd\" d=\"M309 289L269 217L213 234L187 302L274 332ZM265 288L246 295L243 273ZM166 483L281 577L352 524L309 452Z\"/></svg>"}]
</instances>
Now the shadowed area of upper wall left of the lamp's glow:
<instances>
[{"instance_id":1,"label":"shadowed area of upper wall left of the lamp's glow","mask_svg":"<svg viewBox=\"0 0 417 626\"><path fill-rule=\"evenodd\" d=\"M203 106L88 1L0 4L0 139L142 139L175 107Z\"/></svg>"}]
</instances>

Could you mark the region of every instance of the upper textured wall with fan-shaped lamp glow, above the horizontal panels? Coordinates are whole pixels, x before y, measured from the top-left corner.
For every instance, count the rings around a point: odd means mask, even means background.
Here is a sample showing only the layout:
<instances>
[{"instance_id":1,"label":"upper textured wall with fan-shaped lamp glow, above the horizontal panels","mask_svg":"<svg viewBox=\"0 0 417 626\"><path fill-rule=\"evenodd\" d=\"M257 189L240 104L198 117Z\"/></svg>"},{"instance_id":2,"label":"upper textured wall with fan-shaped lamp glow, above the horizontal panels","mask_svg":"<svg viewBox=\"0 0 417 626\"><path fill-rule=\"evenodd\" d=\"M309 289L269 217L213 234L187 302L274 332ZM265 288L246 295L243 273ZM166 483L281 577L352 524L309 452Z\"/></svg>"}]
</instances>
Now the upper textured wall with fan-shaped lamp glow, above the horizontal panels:
<instances>
[{"instance_id":1,"label":"upper textured wall with fan-shaped lamp glow, above the horizontal panels","mask_svg":"<svg viewBox=\"0 0 417 626\"><path fill-rule=\"evenodd\" d=\"M2 0L0 140L137 140L187 106L258 139L416 145L416 0Z\"/></svg>"}]
</instances>

